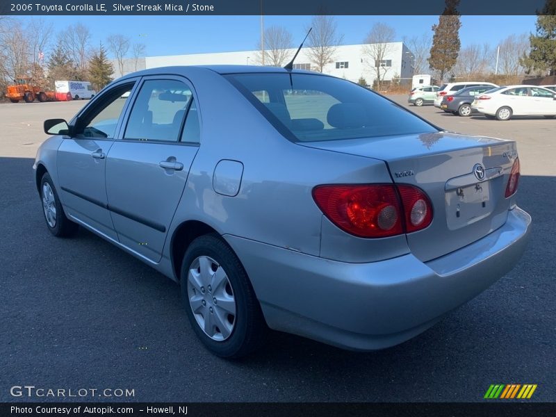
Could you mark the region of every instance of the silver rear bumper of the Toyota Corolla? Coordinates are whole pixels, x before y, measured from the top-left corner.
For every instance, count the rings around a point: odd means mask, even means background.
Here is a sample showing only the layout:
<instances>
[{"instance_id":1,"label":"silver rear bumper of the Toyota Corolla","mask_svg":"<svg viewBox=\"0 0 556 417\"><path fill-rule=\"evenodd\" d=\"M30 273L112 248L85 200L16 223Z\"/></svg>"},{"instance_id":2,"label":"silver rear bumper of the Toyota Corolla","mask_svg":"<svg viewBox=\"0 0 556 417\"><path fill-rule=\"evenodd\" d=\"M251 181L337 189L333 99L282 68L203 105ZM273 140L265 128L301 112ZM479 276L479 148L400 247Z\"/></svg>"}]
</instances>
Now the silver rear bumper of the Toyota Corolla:
<instances>
[{"instance_id":1,"label":"silver rear bumper of the Toyota Corolla","mask_svg":"<svg viewBox=\"0 0 556 417\"><path fill-rule=\"evenodd\" d=\"M240 257L269 327L352 350L407 341L505 275L525 250L520 208L488 236L423 263L412 254L343 263L224 236Z\"/></svg>"}]
</instances>

